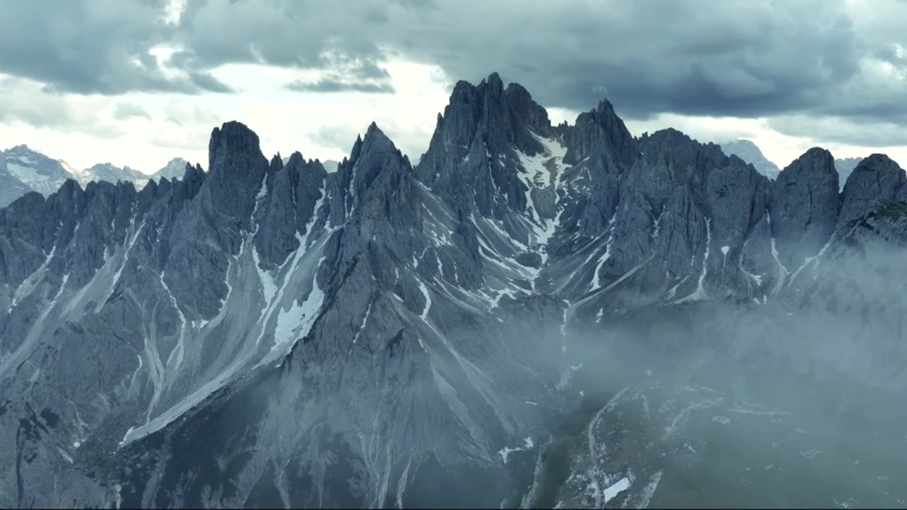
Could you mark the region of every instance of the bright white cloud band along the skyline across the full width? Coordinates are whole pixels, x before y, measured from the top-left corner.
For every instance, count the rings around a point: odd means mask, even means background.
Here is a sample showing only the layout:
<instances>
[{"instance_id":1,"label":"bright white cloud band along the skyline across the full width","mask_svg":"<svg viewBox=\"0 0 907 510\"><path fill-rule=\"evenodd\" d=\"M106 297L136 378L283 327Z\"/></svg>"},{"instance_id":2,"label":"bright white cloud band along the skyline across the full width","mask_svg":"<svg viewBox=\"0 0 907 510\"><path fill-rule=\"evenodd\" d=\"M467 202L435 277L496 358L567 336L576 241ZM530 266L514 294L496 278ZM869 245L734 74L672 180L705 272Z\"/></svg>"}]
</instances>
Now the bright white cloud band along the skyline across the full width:
<instances>
[{"instance_id":1,"label":"bright white cloud band along the skyline across the full width","mask_svg":"<svg viewBox=\"0 0 907 510\"><path fill-rule=\"evenodd\" d=\"M163 51L163 50L161 50ZM162 60L165 54L159 56ZM237 89L234 94L195 96L127 93L116 101L96 95L52 94L40 83L6 77L0 81L0 139L10 145L27 143L76 168L96 162L129 165L154 172L172 157L207 166L208 138L221 123L239 120L258 133L262 152L287 156L299 151L307 158L342 160L372 121L417 162L431 139L436 115L444 110L454 80L434 65L392 61L384 64L394 93L300 93L286 83L312 81L315 71L294 71L262 64L228 64L213 74ZM0 77L2 78L2 77ZM530 90L532 93L532 90ZM151 114L117 118L117 107L128 103ZM590 104L589 108L594 107ZM615 105L620 114L620 105ZM551 123L573 123L578 112L549 108ZM688 116L662 113L648 120L626 120L630 132L674 127L700 142L738 137L752 140L766 157L784 168L810 147L820 145L835 157L888 153L907 163L907 148L864 147L857 142L869 132L853 124L834 123L813 129L814 120L775 117ZM35 127L40 126L40 127ZM867 125L867 131L892 129L892 124ZM857 136L861 135L861 136Z\"/></svg>"}]
</instances>

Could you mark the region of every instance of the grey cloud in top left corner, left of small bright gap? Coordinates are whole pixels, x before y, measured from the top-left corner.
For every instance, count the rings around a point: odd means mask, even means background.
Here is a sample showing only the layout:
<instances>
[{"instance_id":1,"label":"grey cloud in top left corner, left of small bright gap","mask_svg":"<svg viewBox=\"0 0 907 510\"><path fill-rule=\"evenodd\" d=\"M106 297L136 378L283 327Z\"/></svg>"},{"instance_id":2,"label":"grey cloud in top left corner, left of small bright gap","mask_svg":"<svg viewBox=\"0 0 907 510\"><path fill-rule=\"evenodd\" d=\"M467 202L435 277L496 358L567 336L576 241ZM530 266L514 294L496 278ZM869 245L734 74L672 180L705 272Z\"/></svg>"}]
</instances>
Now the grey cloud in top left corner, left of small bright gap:
<instances>
[{"instance_id":1,"label":"grey cloud in top left corner, left of small bright gap","mask_svg":"<svg viewBox=\"0 0 907 510\"><path fill-rule=\"evenodd\" d=\"M0 9L0 73L52 93L197 93L196 80L163 74L149 53L172 37L164 0L30 0ZM209 83L210 84L210 83Z\"/></svg>"}]
</instances>

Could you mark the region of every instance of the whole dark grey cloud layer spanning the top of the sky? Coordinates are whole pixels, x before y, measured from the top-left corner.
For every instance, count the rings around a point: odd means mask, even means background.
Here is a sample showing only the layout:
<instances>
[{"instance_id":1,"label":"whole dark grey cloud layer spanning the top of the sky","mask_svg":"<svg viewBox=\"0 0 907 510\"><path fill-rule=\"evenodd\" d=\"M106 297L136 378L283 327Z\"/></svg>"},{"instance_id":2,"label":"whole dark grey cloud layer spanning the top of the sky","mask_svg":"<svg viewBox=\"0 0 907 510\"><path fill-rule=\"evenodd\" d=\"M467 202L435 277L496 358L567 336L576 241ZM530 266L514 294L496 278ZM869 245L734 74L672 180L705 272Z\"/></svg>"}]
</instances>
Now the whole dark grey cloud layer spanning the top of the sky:
<instances>
[{"instance_id":1,"label":"whole dark grey cloud layer spanning the top of the sky","mask_svg":"<svg viewBox=\"0 0 907 510\"><path fill-rule=\"evenodd\" d=\"M61 91L228 92L211 69L258 63L324 72L294 90L390 92L382 64L404 58L473 83L497 71L550 107L607 97L635 119L907 125L907 3L896 0L189 0L178 25L162 21L162 0L41 4L0 14L11 28L0 73ZM168 65L188 79L166 78L148 53L158 43L180 48Z\"/></svg>"}]
</instances>

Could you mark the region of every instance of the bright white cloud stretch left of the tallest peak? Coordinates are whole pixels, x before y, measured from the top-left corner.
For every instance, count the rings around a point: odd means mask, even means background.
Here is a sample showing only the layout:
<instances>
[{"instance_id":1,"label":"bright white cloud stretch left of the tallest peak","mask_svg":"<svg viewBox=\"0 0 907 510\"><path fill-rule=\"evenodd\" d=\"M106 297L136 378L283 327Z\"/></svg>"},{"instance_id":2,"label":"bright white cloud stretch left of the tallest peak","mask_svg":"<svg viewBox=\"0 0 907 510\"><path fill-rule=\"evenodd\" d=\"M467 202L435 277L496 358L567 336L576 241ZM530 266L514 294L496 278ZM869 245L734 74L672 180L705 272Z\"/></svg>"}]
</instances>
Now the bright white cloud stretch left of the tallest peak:
<instances>
[{"instance_id":1,"label":"bright white cloud stretch left of the tallest peak","mask_svg":"<svg viewBox=\"0 0 907 510\"><path fill-rule=\"evenodd\" d=\"M343 159L356 133L364 134L375 121L415 162L428 146L451 81L431 65L391 62L385 68L395 93L293 92L284 84L317 79L318 74L257 64L229 64L214 71L239 90L235 94L127 93L116 102L102 96L44 93L38 83L7 80L0 88L0 139L10 145L27 143L76 168L109 161L155 172L175 156L207 166L211 130L231 120L258 133L267 157L299 151L321 160ZM120 103L141 108L152 118L115 119ZM320 135L326 126L349 133L348 140L335 136L326 143Z\"/></svg>"}]
</instances>

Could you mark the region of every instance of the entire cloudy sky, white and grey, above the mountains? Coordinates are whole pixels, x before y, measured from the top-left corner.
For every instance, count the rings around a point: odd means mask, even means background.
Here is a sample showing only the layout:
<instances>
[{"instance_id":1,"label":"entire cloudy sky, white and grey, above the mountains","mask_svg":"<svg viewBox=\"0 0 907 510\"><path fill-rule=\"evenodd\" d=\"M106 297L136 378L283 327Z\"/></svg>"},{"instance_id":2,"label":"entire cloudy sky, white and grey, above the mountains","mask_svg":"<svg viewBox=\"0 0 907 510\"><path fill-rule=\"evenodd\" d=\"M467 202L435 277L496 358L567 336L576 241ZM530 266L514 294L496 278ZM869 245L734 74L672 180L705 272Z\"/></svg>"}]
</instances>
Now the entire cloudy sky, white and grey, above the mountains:
<instances>
[{"instance_id":1,"label":"entire cloudy sky, white and grey, above the mountains","mask_svg":"<svg viewBox=\"0 0 907 510\"><path fill-rule=\"evenodd\" d=\"M0 10L0 149L76 168L207 163L239 120L340 159L375 120L412 159L457 80L554 121L607 97L635 134L820 145L907 167L907 0L29 0Z\"/></svg>"}]
</instances>

